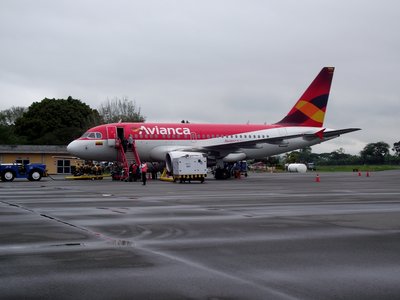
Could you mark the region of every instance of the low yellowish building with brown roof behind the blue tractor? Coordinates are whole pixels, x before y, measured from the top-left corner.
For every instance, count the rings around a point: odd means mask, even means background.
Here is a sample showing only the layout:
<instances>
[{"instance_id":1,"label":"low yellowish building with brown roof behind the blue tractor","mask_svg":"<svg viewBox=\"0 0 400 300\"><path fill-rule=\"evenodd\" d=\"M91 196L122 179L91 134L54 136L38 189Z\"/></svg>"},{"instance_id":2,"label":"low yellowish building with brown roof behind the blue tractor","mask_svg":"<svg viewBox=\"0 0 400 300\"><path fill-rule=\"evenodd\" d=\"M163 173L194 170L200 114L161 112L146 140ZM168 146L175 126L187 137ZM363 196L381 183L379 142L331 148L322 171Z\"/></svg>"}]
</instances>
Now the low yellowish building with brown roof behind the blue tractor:
<instances>
[{"instance_id":1,"label":"low yellowish building with brown roof behind the blue tractor","mask_svg":"<svg viewBox=\"0 0 400 300\"><path fill-rule=\"evenodd\" d=\"M71 166L80 162L67 152L67 146L0 145L0 163L41 163L48 174L71 174Z\"/></svg>"}]
</instances>

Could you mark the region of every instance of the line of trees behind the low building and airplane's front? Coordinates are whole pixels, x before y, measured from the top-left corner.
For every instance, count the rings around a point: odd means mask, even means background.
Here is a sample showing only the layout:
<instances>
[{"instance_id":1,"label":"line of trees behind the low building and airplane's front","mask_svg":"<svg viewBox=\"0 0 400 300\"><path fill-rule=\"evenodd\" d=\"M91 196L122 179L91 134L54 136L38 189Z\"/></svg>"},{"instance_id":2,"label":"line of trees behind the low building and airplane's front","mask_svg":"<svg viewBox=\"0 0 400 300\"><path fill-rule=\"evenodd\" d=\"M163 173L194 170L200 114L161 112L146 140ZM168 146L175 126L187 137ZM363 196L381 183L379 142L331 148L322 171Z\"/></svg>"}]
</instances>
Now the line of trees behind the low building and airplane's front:
<instances>
[{"instance_id":1,"label":"line of trees behind the low building and airplane's front","mask_svg":"<svg viewBox=\"0 0 400 300\"><path fill-rule=\"evenodd\" d=\"M67 145L103 123L144 122L140 107L127 98L107 99L98 109L71 96L0 111L0 144Z\"/></svg>"}]
</instances>

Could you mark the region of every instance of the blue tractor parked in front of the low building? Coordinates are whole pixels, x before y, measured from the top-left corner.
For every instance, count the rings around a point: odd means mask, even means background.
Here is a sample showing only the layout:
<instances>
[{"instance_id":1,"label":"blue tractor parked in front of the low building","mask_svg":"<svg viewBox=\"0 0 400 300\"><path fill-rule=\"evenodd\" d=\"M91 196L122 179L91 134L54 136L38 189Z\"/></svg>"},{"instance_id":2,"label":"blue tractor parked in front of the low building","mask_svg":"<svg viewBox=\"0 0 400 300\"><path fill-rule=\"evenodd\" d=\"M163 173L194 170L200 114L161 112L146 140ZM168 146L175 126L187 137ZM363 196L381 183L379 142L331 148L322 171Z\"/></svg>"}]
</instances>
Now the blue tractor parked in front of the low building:
<instances>
[{"instance_id":1,"label":"blue tractor parked in front of the low building","mask_svg":"<svg viewBox=\"0 0 400 300\"><path fill-rule=\"evenodd\" d=\"M29 181L39 181L47 176L44 164L0 164L0 178L2 181L13 181L15 178L26 178Z\"/></svg>"}]
</instances>

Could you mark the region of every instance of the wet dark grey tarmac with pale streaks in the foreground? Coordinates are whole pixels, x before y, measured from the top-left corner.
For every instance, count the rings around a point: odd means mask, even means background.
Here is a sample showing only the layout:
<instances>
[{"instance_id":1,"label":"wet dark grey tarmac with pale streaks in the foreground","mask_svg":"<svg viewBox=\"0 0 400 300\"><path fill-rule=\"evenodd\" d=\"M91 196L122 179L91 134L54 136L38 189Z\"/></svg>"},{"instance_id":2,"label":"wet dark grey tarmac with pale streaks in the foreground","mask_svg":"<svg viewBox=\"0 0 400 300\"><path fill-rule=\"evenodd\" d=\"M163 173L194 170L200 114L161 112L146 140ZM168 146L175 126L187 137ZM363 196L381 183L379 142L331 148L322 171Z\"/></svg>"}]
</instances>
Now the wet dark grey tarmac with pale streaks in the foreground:
<instances>
[{"instance_id":1,"label":"wet dark grey tarmac with pale streaks in the foreground","mask_svg":"<svg viewBox=\"0 0 400 300\"><path fill-rule=\"evenodd\" d=\"M1 299L399 299L400 171L0 182Z\"/></svg>"}]
</instances>

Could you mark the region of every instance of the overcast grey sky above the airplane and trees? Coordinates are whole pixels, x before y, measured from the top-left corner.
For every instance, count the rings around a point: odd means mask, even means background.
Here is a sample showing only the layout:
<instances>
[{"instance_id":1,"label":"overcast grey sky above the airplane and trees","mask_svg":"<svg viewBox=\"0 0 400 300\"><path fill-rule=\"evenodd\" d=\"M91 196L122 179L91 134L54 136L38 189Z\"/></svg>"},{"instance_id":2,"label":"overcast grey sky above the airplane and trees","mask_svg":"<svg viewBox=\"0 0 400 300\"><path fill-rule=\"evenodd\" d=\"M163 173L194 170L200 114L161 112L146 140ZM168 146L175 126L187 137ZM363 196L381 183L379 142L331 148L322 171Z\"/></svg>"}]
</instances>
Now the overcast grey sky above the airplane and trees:
<instances>
[{"instance_id":1,"label":"overcast grey sky above the airplane and trees","mask_svg":"<svg viewBox=\"0 0 400 300\"><path fill-rule=\"evenodd\" d=\"M273 123L324 66L314 152L400 140L400 2L2 0L0 110L43 98L135 100L148 122Z\"/></svg>"}]
</instances>

